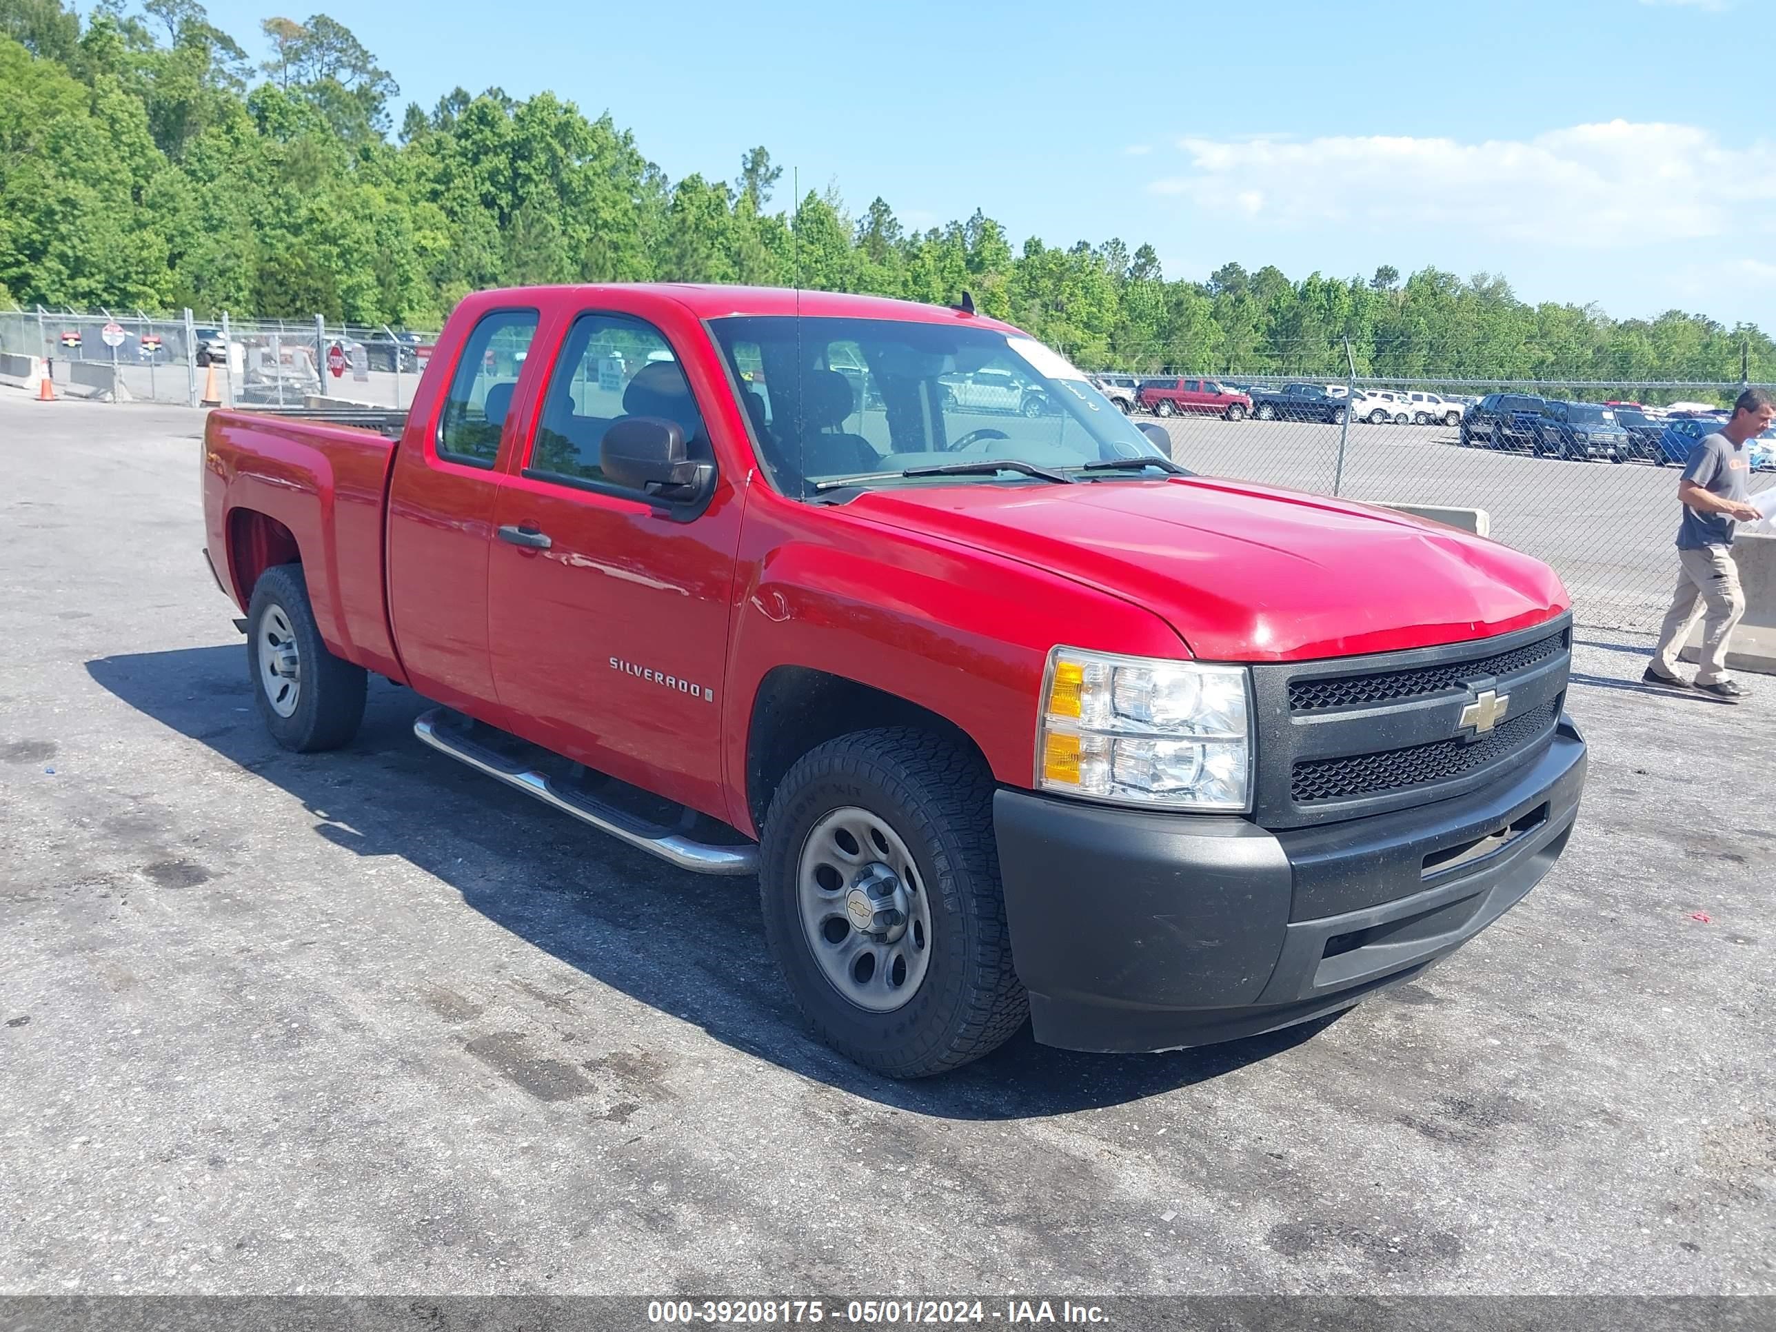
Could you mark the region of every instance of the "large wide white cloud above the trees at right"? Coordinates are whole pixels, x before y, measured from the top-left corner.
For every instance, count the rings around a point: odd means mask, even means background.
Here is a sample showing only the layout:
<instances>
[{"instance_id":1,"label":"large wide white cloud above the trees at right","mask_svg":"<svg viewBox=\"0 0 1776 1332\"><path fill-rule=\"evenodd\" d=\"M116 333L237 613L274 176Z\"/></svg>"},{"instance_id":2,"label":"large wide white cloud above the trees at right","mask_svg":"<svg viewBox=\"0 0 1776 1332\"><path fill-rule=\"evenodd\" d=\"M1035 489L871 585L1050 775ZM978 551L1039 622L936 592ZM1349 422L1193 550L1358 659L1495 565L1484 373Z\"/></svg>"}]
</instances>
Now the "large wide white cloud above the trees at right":
<instances>
[{"instance_id":1,"label":"large wide white cloud above the trees at right","mask_svg":"<svg viewBox=\"0 0 1776 1332\"><path fill-rule=\"evenodd\" d=\"M1149 190L1247 226L1385 238L1439 229L1584 249L1776 234L1776 144L1728 147L1687 124L1609 121L1474 144L1336 135L1177 146L1188 170Z\"/></svg>"}]
</instances>

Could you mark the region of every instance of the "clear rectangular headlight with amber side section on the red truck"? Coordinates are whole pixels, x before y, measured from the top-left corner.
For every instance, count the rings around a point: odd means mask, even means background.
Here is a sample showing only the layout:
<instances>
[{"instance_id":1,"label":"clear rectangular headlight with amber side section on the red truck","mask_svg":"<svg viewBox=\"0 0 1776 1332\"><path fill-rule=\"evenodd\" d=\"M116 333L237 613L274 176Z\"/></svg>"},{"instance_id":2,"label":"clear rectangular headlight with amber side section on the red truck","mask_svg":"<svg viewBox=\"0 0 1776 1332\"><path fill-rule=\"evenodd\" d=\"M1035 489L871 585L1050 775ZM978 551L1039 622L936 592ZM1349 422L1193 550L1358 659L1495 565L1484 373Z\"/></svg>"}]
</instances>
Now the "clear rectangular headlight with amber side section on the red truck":
<instances>
[{"instance_id":1,"label":"clear rectangular headlight with amber side section on the red truck","mask_svg":"<svg viewBox=\"0 0 1776 1332\"><path fill-rule=\"evenodd\" d=\"M1115 805L1245 813L1245 668L1055 648L1043 677L1035 785Z\"/></svg>"}]
</instances>

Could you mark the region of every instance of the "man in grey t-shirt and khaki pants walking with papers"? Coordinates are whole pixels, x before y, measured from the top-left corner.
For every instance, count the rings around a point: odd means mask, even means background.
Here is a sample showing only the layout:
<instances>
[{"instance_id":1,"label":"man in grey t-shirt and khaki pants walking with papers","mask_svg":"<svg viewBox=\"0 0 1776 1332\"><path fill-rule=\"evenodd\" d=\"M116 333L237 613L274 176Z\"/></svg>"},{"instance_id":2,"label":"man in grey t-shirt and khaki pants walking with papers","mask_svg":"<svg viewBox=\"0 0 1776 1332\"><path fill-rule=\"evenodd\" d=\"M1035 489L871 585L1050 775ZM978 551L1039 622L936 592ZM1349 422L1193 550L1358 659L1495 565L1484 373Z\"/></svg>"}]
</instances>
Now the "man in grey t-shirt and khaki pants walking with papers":
<instances>
[{"instance_id":1,"label":"man in grey t-shirt and khaki pants walking with papers","mask_svg":"<svg viewBox=\"0 0 1776 1332\"><path fill-rule=\"evenodd\" d=\"M1677 483L1684 519L1677 529L1677 593L1659 630L1659 646L1641 677L1646 684L1675 689L1696 687L1705 694L1737 703L1746 691L1726 673L1726 641L1746 613L1746 595L1739 588L1733 563L1733 524L1756 522L1758 510L1746 503L1751 460L1746 440L1762 435L1776 419L1776 398L1765 389L1746 389L1733 403L1732 419L1714 435L1696 440ZM1677 673L1677 654L1689 638L1696 614L1707 609L1701 625L1701 670L1696 682Z\"/></svg>"}]
</instances>

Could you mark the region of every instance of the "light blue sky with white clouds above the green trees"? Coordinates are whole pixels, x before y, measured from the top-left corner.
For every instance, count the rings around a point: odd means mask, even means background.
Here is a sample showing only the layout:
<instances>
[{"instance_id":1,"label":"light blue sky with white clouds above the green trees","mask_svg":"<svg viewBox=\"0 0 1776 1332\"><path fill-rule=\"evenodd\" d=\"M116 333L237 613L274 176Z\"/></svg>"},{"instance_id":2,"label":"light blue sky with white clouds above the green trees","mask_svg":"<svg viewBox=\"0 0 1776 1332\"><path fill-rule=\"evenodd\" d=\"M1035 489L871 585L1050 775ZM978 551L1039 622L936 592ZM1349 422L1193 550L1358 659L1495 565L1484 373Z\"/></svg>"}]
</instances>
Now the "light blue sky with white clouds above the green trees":
<instances>
[{"instance_id":1,"label":"light blue sky with white clouds above the green trees","mask_svg":"<svg viewBox=\"0 0 1776 1332\"><path fill-rule=\"evenodd\" d=\"M314 4L210 9L261 53L261 18ZM327 12L400 105L552 89L671 178L732 178L765 144L854 211L879 194L918 227L980 206L1014 243L1151 242L1169 277L1433 263L1531 300L1776 330L1776 0Z\"/></svg>"}]
</instances>

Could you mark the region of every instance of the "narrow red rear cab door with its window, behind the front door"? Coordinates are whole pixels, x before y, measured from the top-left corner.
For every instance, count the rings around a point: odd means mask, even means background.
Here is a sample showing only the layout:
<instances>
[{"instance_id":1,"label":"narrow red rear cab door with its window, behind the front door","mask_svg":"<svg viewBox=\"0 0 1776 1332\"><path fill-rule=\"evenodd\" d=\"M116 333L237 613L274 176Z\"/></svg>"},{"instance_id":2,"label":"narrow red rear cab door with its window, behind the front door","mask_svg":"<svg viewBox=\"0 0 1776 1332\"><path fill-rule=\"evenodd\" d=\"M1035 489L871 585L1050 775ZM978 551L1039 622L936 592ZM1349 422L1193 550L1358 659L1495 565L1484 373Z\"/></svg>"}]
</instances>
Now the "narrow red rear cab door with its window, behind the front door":
<instances>
[{"instance_id":1,"label":"narrow red rear cab door with its window, behind the front door","mask_svg":"<svg viewBox=\"0 0 1776 1332\"><path fill-rule=\"evenodd\" d=\"M442 401L408 419L389 483L394 645L414 689L481 718L496 705L487 655L487 556L511 403L535 375L538 311L464 311L467 336Z\"/></svg>"}]
</instances>

